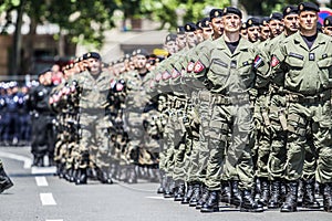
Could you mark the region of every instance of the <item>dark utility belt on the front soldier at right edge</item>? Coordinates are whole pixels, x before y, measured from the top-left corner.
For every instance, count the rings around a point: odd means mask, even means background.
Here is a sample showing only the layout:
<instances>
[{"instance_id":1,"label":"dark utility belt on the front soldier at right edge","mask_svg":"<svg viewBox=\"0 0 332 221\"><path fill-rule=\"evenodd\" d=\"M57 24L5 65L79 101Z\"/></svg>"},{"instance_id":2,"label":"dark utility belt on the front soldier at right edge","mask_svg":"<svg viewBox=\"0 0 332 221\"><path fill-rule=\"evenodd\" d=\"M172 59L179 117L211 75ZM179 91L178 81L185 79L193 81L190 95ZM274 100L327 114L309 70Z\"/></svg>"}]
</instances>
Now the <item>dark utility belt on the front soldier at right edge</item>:
<instances>
[{"instance_id":1,"label":"dark utility belt on the front soldier at right edge","mask_svg":"<svg viewBox=\"0 0 332 221\"><path fill-rule=\"evenodd\" d=\"M286 95L286 98L290 103L317 104L317 103L330 101L331 99L331 91L326 90L324 92L321 92L317 95L311 95L311 96L289 92Z\"/></svg>"}]
</instances>

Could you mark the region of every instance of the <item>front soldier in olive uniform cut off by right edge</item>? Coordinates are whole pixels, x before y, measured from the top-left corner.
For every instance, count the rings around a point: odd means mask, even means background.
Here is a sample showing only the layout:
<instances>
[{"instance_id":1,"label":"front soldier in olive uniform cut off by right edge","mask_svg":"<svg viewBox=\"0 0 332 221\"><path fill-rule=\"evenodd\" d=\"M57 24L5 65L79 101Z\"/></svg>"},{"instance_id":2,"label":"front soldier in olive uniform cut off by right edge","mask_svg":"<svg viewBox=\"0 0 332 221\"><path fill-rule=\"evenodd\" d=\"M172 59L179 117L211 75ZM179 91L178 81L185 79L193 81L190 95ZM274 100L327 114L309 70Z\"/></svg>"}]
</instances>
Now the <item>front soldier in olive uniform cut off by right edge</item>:
<instances>
[{"instance_id":1,"label":"front soldier in olive uniform cut off by right edge","mask_svg":"<svg viewBox=\"0 0 332 221\"><path fill-rule=\"evenodd\" d=\"M297 211L299 179L302 176L308 136L314 141L318 165L315 178L322 187L324 210L332 206L331 152L331 51L332 42L317 30L318 6L299 4L300 31L280 42L272 52L272 81L283 78L287 97L287 162L284 178L288 194L281 212ZM312 75L312 73L317 73ZM308 134L308 126L311 134Z\"/></svg>"}]
</instances>

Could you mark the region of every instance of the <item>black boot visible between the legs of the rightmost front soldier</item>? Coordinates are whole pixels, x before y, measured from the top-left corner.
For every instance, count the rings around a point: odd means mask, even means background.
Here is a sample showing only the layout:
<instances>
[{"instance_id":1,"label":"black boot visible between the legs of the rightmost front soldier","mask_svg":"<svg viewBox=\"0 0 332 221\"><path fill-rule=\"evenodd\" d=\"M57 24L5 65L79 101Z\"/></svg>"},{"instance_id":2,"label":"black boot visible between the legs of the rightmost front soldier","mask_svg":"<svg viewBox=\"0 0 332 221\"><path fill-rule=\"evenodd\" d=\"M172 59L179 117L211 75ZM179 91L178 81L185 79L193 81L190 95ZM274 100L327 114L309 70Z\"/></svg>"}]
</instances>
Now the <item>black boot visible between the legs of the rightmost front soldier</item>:
<instances>
[{"instance_id":1,"label":"black boot visible between the legs of the rightmost front soldier","mask_svg":"<svg viewBox=\"0 0 332 221\"><path fill-rule=\"evenodd\" d=\"M314 197L314 183L313 179L303 181L303 197L302 207L309 209L320 209L320 203Z\"/></svg>"}]
</instances>

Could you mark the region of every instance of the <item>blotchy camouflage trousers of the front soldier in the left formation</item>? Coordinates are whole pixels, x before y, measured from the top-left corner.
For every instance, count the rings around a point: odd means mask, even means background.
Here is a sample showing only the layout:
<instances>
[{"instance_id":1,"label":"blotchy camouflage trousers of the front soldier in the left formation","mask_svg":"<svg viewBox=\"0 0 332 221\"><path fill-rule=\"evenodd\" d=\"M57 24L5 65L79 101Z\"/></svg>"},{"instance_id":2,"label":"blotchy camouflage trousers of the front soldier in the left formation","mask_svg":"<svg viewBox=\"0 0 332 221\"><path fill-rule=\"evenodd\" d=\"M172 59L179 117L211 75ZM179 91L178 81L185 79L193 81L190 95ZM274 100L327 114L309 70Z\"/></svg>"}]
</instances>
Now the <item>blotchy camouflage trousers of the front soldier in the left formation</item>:
<instances>
[{"instance_id":1,"label":"blotchy camouflage trousers of the front soldier in the left formation","mask_svg":"<svg viewBox=\"0 0 332 221\"><path fill-rule=\"evenodd\" d=\"M80 167L87 167L86 155L89 155L90 166L107 168L111 165L108 133L108 118L104 113L94 114L82 113L80 117L81 139L79 147Z\"/></svg>"}]
</instances>

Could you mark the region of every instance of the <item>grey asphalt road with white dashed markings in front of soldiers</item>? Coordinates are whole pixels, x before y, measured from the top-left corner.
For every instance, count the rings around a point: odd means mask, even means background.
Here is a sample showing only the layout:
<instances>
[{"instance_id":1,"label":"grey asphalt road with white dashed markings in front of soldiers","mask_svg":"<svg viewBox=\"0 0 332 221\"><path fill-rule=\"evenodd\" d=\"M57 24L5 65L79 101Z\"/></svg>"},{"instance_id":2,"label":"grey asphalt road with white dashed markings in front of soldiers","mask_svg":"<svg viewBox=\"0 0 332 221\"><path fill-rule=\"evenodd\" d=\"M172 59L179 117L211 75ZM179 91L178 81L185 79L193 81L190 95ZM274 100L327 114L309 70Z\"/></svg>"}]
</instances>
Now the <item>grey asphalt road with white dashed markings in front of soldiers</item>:
<instances>
[{"instance_id":1,"label":"grey asphalt road with white dashed markings in front of soldiers","mask_svg":"<svg viewBox=\"0 0 332 221\"><path fill-rule=\"evenodd\" d=\"M262 213L239 212L221 206L216 213L200 213L156 193L158 183L89 180L75 186L53 176L55 168L31 168L29 147L0 147L0 158L14 187L0 194L0 221L331 221L322 210Z\"/></svg>"}]
</instances>

